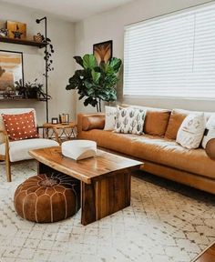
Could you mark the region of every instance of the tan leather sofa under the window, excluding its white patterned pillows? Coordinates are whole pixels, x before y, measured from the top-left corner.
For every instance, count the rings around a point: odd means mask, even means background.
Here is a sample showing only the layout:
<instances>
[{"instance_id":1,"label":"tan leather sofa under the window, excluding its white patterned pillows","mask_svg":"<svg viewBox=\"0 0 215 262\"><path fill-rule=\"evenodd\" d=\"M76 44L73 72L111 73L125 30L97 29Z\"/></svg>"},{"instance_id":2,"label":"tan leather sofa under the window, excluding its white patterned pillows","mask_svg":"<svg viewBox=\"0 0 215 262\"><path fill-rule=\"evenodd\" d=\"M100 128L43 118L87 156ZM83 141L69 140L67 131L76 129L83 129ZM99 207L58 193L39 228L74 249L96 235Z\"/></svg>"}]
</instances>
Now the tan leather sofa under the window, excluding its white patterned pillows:
<instances>
[{"instance_id":1,"label":"tan leather sofa under the window, excluding its white patterned pillows","mask_svg":"<svg viewBox=\"0 0 215 262\"><path fill-rule=\"evenodd\" d=\"M77 116L77 137L141 159L143 170L179 183L215 193L215 160L203 148L186 149L176 143L179 126L190 111L148 108L144 135L118 134L103 130L105 114ZM209 116L209 114L206 114Z\"/></svg>"}]
</instances>

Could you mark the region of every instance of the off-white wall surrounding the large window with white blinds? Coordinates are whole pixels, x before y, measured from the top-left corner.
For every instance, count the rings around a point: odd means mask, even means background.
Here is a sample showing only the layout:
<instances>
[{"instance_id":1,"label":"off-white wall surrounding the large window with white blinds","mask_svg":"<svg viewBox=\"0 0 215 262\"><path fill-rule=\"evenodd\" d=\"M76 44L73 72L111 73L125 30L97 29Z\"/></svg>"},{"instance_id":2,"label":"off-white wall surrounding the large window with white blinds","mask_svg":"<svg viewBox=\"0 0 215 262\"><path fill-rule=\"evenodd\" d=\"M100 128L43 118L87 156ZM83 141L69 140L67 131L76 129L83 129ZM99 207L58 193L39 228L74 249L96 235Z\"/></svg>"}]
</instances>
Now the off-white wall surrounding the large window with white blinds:
<instances>
[{"instance_id":1,"label":"off-white wall surrounding the large window with white blinds","mask_svg":"<svg viewBox=\"0 0 215 262\"><path fill-rule=\"evenodd\" d=\"M76 55L92 53L93 44L113 40L113 55L123 59L124 25L136 23L154 16L164 15L209 1L204 0L137 0L115 8L109 12L91 16L76 25ZM122 102L122 85L118 86L119 99ZM84 107L83 100L77 102L77 112L94 111L91 106ZM190 110L215 111L214 101L181 99L123 99L123 102L135 105L166 108L187 108Z\"/></svg>"}]
</instances>

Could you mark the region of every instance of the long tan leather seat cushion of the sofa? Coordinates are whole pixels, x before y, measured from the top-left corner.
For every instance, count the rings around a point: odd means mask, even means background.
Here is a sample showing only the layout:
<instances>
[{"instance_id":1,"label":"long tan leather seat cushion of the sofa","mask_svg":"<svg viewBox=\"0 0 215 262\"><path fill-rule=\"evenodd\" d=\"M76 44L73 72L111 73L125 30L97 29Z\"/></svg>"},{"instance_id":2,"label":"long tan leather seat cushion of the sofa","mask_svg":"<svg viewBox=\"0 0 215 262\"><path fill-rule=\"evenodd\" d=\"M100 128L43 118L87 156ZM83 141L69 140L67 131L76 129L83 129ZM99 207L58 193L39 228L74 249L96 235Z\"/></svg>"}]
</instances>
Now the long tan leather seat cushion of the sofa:
<instances>
[{"instance_id":1,"label":"long tan leather seat cushion of the sofa","mask_svg":"<svg viewBox=\"0 0 215 262\"><path fill-rule=\"evenodd\" d=\"M202 148L189 150L175 141L159 136L116 134L104 130L81 132L78 138L90 139L97 146L118 151L164 166L171 166L200 176L215 178L215 161Z\"/></svg>"}]
</instances>

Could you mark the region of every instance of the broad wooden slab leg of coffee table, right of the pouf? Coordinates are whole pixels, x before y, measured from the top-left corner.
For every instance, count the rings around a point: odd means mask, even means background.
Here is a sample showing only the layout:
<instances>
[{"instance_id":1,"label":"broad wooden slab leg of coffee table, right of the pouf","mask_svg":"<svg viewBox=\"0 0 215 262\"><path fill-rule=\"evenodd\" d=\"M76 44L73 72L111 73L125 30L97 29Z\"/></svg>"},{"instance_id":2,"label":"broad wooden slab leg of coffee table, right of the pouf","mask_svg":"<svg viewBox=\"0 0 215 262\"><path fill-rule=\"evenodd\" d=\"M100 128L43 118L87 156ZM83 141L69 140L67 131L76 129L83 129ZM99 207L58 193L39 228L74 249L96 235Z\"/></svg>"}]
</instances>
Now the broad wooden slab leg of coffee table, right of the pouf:
<instances>
[{"instance_id":1,"label":"broad wooden slab leg of coffee table, right of the pouf","mask_svg":"<svg viewBox=\"0 0 215 262\"><path fill-rule=\"evenodd\" d=\"M119 170L81 182L81 224L86 226L130 205L130 172Z\"/></svg>"}]
</instances>

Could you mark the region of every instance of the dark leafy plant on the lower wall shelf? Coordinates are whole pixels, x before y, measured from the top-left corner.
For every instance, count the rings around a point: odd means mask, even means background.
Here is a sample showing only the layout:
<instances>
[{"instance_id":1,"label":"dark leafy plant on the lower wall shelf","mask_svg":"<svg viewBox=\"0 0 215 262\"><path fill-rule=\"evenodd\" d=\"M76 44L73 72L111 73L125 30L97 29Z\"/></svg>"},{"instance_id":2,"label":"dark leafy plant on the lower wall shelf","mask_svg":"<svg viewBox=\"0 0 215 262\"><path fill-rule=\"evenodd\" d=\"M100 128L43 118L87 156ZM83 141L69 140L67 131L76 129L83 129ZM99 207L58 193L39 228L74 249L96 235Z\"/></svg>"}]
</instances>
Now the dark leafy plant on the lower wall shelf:
<instances>
[{"instance_id":1,"label":"dark leafy plant on the lower wall shelf","mask_svg":"<svg viewBox=\"0 0 215 262\"><path fill-rule=\"evenodd\" d=\"M47 95L43 91L43 84L37 83L37 78L33 83L26 82L22 85L22 81L15 81L15 91L18 92L19 96L23 96L24 98L37 98L40 101L46 101L50 99L51 96Z\"/></svg>"}]
</instances>

